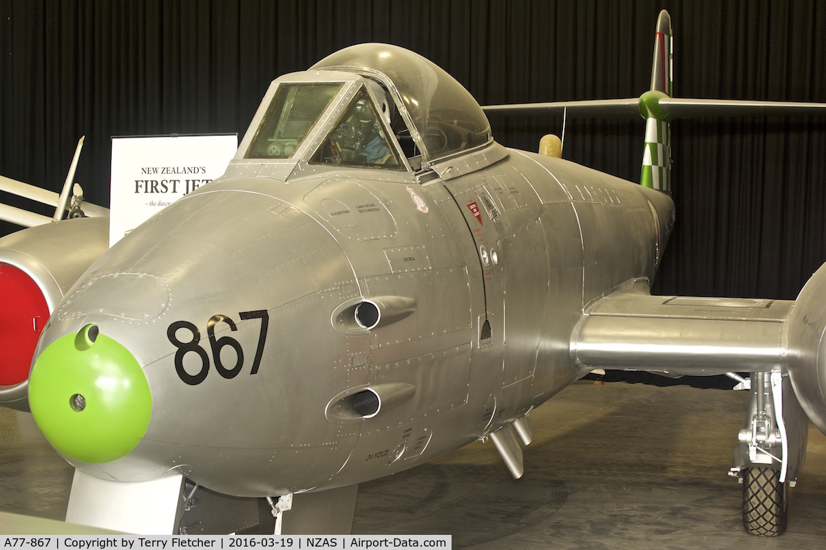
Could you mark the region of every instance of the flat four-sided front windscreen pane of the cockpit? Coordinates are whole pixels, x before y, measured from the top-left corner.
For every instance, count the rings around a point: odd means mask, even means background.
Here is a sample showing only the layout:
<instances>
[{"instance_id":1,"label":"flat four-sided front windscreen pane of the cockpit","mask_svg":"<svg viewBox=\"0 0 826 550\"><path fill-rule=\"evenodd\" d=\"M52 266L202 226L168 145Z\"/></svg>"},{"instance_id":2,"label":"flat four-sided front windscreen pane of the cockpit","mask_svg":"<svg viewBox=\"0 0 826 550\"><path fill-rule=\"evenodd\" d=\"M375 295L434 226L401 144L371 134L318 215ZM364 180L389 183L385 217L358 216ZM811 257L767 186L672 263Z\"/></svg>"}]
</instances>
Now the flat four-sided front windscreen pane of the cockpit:
<instances>
[{"instance_id":1,"label":"flat four-sided front windscreen pane of the cockpit","mask_svg":"<svg viewBox=\"0 0 826 550\"><path fill-rule=\"evenodd\" d=\"M340 82L280 84L245 157L292 157L340 87Z\"/></svg>"}]
</instances>

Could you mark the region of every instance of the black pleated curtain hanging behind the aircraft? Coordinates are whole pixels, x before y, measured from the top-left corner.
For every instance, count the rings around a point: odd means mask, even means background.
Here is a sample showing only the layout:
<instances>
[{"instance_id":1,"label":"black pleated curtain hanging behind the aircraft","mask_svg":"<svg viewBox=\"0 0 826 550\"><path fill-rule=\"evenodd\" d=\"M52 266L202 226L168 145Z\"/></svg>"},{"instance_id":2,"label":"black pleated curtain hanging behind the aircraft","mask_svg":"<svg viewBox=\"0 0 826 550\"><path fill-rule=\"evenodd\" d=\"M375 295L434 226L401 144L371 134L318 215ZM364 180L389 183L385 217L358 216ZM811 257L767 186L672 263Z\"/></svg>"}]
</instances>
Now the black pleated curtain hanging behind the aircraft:
<instances>
[{"instance_id":1,"label":"black pleated curtain hanging behind the aircraft","mask_svg":"<svg viewBox=\"0 0 826 550\"><path fill-rule=\"evenodd\" d=\"M483 105L638 96L663 7L676 96L826 101L821 0L0 0L0 174L57 191L85 134L75 181L106 205L112 135L243 134L273 78L359 42L433 59ZM562 120L491 125L535 151ZM655 290L794 299L826 261L826 117L677 121L673 143ZM563 154L637 181L642 146L641 120L569 120Z\"/></svg>"}]
</instances>

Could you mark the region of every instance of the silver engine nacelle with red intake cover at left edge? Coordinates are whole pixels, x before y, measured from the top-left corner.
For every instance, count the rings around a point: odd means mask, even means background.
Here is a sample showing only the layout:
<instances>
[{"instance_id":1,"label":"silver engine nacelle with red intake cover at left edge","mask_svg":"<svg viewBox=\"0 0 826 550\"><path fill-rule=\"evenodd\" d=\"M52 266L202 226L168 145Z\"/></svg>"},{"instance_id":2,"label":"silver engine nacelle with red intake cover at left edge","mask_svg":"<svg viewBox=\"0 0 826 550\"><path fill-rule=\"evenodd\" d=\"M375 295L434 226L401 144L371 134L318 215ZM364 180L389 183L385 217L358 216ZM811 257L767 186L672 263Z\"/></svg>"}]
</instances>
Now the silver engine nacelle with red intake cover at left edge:
<instances>
[{"instance_id":1,"label":"silver engine nacelle with red intake cover at left edge","mask_svg":"<svg viewBox=\"0 0 826 550\"><path fill-rule=\"evenodd\" d=\"M0 238L0 405L28 410L29 369L40 331L108 247L108 218L68 219Z\"/></svg>"}]
</instances>

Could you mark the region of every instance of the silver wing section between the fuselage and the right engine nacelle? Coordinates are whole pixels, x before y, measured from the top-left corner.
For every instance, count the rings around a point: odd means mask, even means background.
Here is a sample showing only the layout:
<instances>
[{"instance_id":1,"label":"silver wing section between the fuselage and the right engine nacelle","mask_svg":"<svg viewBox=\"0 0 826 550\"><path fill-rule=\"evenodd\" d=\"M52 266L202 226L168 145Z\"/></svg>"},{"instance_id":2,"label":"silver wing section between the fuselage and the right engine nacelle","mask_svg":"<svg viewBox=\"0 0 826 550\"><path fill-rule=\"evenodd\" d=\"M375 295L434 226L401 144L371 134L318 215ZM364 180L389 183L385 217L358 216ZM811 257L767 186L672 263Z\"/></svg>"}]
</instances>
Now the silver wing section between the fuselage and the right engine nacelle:
<instances>
[{"instance_id":1,"label":"silver wing section between the fuselage and the right engine nacelle","mask_svg":"<svg viewBox=\"0 0 826 550\"><path fill-rule=\"evenodd\" d=\"M786 366L792 300L652 296L637 280L592 303L572 335L583 369L672 375Z\"/></svg>"}]
</instances>

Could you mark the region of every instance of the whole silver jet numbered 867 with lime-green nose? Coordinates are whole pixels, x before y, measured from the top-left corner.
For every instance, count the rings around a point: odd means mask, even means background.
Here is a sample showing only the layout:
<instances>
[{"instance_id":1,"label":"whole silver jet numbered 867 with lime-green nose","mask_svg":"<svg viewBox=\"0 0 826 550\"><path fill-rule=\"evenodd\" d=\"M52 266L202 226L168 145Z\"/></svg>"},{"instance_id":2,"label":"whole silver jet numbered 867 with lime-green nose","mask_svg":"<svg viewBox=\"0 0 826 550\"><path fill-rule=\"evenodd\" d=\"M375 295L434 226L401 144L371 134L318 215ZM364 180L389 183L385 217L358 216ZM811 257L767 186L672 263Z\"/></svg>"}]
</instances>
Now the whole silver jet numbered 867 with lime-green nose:
<instances>
[{"instance_id":1,"label":"whole silver jet numbered 867 with lime-green nose","mask_svg":"<svg viewBox=\"0 0 826 550\"><path fill-rule=\"evenodd\" d=\"M489 109L633 107L643 186L501 146L396 46L273 81L225 175L50 310L19 387L77 468L67 520L177 532L203 487L268 498L284 532L302 507L348 530L358 483L482 438L521 477L535 407L592 369L643 369L751 373L733 473L749 532L780 534L808 420L826 433L826 271L796 301L650 294L675 223L669 121L705 112L668 96L670 35L662 12L639 100Z\"/></svg>"}]
</instances>

